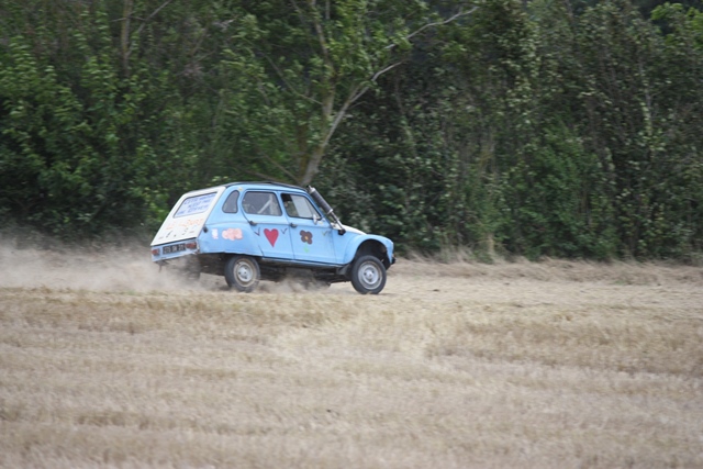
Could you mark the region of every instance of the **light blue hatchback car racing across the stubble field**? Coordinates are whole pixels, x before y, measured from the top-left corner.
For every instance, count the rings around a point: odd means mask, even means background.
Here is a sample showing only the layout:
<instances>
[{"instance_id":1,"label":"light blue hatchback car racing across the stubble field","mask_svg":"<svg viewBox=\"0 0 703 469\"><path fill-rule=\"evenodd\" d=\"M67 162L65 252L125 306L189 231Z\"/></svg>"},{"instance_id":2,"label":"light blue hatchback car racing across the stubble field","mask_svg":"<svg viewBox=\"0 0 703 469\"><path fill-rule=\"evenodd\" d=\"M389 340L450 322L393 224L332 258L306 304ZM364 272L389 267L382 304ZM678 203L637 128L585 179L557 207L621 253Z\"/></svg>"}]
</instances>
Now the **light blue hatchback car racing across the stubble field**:
<instances>
[{"instance_id":1,"label":"light blue hatchback car racing across the stubble field","mask_svg":"<svg viewBox=\"0 0 703 469\"><path fill-rule=\"evenodd\" d=\"M224 276L243 292L298 277L377 294L395 258L393 242L343 225L312 187L232 182L183 194L152 242L152 260Z\"/></svg>"}]
</instances>

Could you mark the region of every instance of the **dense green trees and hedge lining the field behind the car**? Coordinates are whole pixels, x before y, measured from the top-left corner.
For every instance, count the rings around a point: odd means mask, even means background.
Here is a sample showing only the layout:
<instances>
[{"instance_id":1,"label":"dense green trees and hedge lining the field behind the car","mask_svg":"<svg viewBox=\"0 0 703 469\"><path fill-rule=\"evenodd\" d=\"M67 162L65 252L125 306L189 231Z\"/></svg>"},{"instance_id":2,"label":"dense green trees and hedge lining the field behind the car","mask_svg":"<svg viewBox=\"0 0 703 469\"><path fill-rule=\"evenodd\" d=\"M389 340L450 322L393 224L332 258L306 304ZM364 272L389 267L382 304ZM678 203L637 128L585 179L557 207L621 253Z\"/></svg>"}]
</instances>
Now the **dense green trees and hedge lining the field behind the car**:
<instances>
[{"instance_id":1,"label":"dense green trees and hedge lining the field behind the car","mask_svg":"<svg viewBox=\"0 0 703 469\"><path fill-rule=\"evenodd\" d=\"M402 249L700 260L700 2L320 3L4 2L4 224L276 179Z\"/></svg>"}]
</instances>

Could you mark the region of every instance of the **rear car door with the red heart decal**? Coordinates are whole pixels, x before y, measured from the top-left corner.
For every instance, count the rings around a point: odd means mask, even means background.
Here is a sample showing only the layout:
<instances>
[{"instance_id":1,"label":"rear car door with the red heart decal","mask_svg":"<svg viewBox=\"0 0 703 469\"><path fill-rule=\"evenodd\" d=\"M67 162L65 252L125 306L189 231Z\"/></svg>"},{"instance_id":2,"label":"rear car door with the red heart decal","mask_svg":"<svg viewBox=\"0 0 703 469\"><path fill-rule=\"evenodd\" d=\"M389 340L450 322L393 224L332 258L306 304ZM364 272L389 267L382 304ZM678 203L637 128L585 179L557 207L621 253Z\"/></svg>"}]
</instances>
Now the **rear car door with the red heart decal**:
<instances>
[{"instance_id":1,"label":"rear car door with the red heart decal","mask_svg":"<svg viewBox=\"0 0 703 469\"><path fill-rule=\"evenodd\" d=\"M288 219L276 192L247 190L242 197L242 210L264 257L293 260Z\"/></svg>"}]
</instances>

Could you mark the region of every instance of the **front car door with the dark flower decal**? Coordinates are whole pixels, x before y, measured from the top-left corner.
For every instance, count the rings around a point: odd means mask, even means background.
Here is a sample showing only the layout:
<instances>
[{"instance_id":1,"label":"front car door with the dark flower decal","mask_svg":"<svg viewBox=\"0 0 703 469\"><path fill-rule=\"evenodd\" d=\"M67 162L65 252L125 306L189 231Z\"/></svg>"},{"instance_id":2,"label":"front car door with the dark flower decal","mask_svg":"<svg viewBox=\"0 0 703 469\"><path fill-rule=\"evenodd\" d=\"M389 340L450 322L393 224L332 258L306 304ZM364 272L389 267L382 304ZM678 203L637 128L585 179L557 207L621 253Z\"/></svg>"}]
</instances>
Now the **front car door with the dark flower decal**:
<instances>
[{"instance_id":1,"label":"front car door with the dark flower decal","mask_svg":"<svg viewBox=\"0 0 703 469\"><path fill-rule=\"evenodd\" d=\"M291 243L295 260L335 264L332 236L335 231L322 217L306 196L281 193L283 209L291 227Z\"/></svg>"}]
</instances>

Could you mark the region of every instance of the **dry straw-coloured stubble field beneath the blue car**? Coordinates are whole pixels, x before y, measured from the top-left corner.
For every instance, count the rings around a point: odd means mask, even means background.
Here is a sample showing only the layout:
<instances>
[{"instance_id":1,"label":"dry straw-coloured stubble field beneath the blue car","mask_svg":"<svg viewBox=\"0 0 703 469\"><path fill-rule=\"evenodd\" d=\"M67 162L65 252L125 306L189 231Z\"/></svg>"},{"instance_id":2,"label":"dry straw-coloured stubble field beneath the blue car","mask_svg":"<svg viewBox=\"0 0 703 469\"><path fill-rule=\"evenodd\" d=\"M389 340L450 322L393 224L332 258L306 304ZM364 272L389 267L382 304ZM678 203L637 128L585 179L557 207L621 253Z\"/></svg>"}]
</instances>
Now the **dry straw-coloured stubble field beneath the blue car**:
<instances>
[{"instance_id":1,"label":"dry straw-coloured stubble field beneath the blue car","mask_svg":"<svg viewBox=\"0 0 703 469\"><path fill-rule=\"evenodd\" d=\"M703 467L701 268L401 259L364 297L0 266L1 467Z\"/></svg>"}]
</instances>

